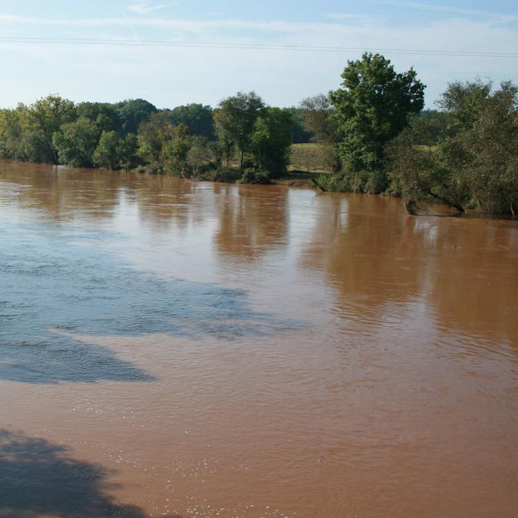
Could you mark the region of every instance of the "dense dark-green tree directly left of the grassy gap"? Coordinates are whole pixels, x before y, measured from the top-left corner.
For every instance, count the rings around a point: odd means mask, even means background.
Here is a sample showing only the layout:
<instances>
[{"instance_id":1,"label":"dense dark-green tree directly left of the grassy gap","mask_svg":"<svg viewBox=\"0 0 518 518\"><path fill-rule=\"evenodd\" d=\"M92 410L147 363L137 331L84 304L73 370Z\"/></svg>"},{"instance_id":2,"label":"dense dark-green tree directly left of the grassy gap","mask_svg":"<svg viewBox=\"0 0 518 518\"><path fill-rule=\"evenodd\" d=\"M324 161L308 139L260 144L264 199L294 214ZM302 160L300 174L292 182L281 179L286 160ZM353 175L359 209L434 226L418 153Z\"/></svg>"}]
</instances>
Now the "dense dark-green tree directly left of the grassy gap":
<instances>
[{"instance_id":1,"label":"dense dark-green tree directly left of the grassy gap","mask_svg":"<svg viewBox=\"0 0 518 518\"><path fill-rule=\"evenodd\" d=\"M251 150L259 169L272 176L287 171L291 155L291 113L280 108L267 108L256 120L251 137Z\"/></svg>"}]
</instances>

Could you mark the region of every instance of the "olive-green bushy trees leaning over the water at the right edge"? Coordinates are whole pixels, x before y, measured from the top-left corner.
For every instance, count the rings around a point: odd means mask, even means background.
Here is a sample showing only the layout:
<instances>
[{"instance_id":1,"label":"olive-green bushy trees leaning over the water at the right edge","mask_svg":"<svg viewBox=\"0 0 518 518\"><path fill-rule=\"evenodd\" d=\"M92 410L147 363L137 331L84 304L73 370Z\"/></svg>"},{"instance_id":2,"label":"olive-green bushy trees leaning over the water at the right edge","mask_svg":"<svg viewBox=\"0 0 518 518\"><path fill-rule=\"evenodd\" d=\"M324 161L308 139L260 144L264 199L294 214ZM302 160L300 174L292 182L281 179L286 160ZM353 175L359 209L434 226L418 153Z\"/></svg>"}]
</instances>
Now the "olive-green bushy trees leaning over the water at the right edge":
<instances>
[{"instance_id":1,"label":"olive-green bushy trees leaning over the water at the right edge","mask_svg":"<svg viewBox=\"0 0 518 518\"><path fill-rule=\"evenodd\" d=\"M434 148L416 146L423 140L419 120L392 143L392 191L411 204L435 201L459 211L514 215L518 204L517 86L504 82L492 91L490 82L456 82L438 104L443 110L442 127Z\"/></svg>"}]
</instances>

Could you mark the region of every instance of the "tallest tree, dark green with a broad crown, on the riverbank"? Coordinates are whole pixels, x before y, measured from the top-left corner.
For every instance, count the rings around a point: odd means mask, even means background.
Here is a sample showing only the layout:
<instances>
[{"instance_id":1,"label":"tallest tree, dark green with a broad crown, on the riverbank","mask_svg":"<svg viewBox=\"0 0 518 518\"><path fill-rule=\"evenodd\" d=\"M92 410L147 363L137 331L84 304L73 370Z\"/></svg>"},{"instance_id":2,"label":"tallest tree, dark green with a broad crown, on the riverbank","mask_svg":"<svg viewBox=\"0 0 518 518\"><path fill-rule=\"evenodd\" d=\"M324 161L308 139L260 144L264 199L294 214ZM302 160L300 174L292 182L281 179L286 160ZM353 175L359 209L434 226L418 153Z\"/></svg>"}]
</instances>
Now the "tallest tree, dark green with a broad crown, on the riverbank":
<instances>
[{"instance_id":1,"label":"tallest tree, dark green with a broad crown, on the riverbank","mask_svg":"<svg viewBox=\"0 0 518 518\"><path fill-rule=\"evenodd\" d=\"M343 88L329 94L343 135L340 155L349 171L363 175L363 189L383 191L385 145L421 111L425 86L412 68L396 73L390 60L371 53L348 61L342 78Z\"/></svg>"}]
</instances>

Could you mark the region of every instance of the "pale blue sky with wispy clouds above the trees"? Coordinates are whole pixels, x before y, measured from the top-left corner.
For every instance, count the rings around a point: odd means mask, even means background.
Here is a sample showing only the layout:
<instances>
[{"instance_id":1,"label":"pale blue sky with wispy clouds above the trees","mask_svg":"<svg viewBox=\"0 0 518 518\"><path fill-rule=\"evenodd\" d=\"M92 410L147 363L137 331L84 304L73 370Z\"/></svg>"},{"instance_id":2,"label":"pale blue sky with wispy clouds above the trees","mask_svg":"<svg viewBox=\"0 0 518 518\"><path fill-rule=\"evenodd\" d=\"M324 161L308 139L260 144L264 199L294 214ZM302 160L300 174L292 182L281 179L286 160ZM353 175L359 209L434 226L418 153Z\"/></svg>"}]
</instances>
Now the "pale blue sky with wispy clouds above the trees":
<instances>
[{"instance_id":1,"label":"pale blue sky with wispy clouds above the trees","mask_svg":"<svg viewBox=\"0 0 518 518\"><path fill-rule=\"evenodd\" d=\"M114 102L144 97L160 107L218 104L238 90L291 106L340 84L361 49L517 52L518 0L0 0L0 37L204 42L266 48L0 44L1 106L48 93ZM285 46L358 50L322 52ZM416 68L433 106L448 81L518 82L513 57L452 57L383 50L396 70Z\"/></svg>"}]
</instances>

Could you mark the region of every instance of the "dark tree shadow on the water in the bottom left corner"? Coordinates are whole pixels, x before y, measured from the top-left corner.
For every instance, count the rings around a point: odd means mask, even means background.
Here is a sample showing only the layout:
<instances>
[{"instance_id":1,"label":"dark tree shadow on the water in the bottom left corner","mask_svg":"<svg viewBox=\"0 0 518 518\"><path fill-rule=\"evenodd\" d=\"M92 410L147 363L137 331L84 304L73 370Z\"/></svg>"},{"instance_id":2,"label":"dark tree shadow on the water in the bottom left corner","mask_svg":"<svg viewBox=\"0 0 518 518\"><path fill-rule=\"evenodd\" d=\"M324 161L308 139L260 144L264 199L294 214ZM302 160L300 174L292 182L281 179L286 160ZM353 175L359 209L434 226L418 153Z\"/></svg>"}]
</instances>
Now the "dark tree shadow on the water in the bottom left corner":
<instances>
[{"instance_id":1,"label":"dark tree shadow on the water in the bottom left corner","mask_svg":"<svg viewBox=\"0 0 518 518\"><path fill-rule=\"evenodd\" d=\"M1 518L146 518L108 496L109 474L71 459L64 446L0 431Z\"/></svg>"}]
</instances>

